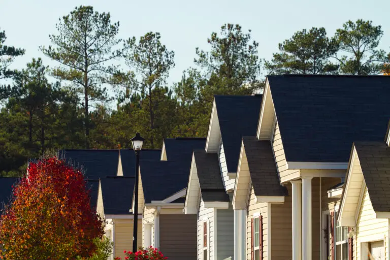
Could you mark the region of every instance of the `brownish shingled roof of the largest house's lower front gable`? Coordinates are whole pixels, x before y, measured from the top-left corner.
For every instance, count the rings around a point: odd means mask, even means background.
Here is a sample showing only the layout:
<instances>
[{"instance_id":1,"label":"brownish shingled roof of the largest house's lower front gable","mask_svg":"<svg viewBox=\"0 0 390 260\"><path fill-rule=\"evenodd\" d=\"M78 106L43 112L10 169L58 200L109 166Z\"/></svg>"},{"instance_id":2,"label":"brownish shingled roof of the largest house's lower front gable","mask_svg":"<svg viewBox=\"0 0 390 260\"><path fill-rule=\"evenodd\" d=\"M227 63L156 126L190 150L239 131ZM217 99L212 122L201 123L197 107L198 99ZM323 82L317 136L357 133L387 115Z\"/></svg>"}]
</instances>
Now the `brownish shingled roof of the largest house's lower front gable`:
<instances>
[{"instance_id":1,"label":"brownish shingled roof of the largest house's lower front gable","mask_svg":"<svg viewBox=\"0 0 390 260\"><path fill-rule=\"evenodd\" d=\"M271 142L258 141L256 137L242 140L255 195L287 196L286 187L280 185Z\"/></svg>"}]
</instances>

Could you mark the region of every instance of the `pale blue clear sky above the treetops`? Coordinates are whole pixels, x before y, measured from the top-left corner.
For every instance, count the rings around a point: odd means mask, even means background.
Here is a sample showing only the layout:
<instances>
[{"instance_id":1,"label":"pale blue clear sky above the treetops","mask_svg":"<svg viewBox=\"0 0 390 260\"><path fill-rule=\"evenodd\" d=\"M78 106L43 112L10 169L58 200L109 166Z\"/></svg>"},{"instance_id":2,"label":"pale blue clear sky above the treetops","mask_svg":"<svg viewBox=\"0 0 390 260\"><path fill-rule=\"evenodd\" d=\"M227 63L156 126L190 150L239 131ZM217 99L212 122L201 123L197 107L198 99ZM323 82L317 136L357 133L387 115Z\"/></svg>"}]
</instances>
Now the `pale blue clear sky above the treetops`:
<instances>
[{"instance_id":1,"label":"pale blue clear sky above the treetops","mask_svg":"<svg viewBox=\"0 0 390 260\"><path fill-rule=\"evenodd\" d=\"M58 19L80 5L110 12L112 21L120 22L119 38L139 39L148 31L160 32L161 42L175 52L170 83L179 81L182 72L193 66L196 47L209 50L207 38L224 23L251 29L252 39L259 43L259 57L271 59L278 43L303 28L325 27L328 36L333 36L347 20L372 20L384 30L379 47L390 52L388 0L0 0L0 28L6 31L6 45L26 50L12 67L21 69L33 57L54 65L39 46L50 45L49 34L56 34Z\"/></svg>"}]
</instances>

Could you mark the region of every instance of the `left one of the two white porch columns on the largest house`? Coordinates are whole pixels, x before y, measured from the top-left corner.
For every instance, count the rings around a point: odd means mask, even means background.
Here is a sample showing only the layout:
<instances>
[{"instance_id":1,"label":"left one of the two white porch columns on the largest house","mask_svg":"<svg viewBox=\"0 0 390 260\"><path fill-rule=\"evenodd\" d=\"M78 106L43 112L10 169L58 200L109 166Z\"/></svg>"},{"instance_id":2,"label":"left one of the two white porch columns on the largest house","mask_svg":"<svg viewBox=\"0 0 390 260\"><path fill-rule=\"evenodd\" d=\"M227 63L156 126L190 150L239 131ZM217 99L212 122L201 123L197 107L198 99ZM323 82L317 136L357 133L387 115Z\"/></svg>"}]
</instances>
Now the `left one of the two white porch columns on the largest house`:
<instances>
[{"instance_id":1,"label":"left one of the two white porch columns on the largest house","mask_svg":"<svg viewBox=\"0 0 390 260\"><path fill-rule=\"evenodd\" d=\"M293 186L293 260L302 259L302 182L291 181Z\"/></svg>"}]
</instances>

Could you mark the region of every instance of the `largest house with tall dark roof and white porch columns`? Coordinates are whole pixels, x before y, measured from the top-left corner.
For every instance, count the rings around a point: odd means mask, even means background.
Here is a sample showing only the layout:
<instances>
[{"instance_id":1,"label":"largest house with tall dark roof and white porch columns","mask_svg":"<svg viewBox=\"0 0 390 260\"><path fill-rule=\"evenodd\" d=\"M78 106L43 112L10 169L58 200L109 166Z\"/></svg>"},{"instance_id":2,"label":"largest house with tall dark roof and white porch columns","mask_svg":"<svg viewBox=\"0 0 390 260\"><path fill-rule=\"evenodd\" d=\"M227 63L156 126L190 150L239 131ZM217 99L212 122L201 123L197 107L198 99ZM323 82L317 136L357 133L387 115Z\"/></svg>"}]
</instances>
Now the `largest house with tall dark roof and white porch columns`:
<instances>
[{"instance_id":1,"label":"largest house with tall dark roof and white porch columns","mask_svg":"<svg viewBox=\"0 0 390 260\"><path fill-rule=\"evenodd\" d=\"M390 118L389 85L390 78L382 76L267 77L257 133L241 144L233 208L246 212L246 221L237 228L236 259L328 259L329 205L337 201L328 190L345 178L352 142L382 141ZM258 152L268 147L269 157L258 157L257 166L251 163L257 152L246 154L250 142ZM263 171L268 174L258 182ZM262 182L287 192L256 191Z\"/></svg>"}]
</instances>

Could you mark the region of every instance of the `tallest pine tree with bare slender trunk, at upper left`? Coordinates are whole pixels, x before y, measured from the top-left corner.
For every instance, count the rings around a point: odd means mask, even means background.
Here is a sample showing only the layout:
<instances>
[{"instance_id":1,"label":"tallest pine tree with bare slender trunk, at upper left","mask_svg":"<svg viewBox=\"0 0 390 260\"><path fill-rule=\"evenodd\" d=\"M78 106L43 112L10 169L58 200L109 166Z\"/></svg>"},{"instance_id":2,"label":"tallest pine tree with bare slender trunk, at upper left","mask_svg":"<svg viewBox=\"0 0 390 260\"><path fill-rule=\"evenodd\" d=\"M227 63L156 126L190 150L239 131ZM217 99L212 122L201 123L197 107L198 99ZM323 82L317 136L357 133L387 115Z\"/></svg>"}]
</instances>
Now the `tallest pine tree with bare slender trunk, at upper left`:
<instances>
[{"instance_id":1,"label":"tallest pine tree with bare slender trunk, at upper left","mask_svg":"<svg viewBox=\"0 0 390 260\"><path fill-rule=\"evenodd\" d=\"M98 13L91 6L76 7L56 25L58 35L50 35L53 46L41 47L43 53L60 63L53 75L73 83L83 96L85 147L89 148L89 108L109 101L106 87L112 66L107 62L119 57L122 48L116 36L119 22L111 23L110 13ZM92 103L92 104L91 104Z\"/></svg>"}]
</instances>

